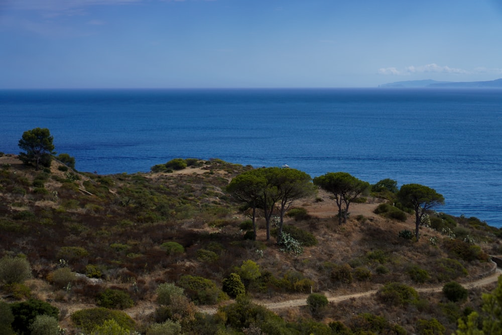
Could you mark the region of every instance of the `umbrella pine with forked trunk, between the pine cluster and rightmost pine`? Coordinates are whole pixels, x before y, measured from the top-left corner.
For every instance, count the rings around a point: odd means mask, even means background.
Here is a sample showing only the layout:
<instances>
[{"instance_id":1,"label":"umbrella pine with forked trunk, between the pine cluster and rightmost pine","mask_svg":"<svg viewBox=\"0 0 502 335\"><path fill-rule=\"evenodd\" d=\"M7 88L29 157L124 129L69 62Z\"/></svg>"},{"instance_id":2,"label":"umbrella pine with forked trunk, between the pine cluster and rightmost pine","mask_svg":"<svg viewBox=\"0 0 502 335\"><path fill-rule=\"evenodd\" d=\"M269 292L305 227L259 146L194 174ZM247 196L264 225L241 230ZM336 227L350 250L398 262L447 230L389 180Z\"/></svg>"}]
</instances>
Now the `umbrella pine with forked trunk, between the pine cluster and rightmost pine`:
<instances>
[{"instance_id":1,"label":"umbrella pine with forked trunk, between the pine cluster and rightmost pine","mask_svg":"<svg viewBox=\"0 0 502 335\"><path fill-rule=\"evenodd\" d=\"M369 190L369 183L357 179L347 172L328 172L314 178L314 184L333 193L338 206L339 223L346 222L350 202Z\"/></svg>"}]
</instances>

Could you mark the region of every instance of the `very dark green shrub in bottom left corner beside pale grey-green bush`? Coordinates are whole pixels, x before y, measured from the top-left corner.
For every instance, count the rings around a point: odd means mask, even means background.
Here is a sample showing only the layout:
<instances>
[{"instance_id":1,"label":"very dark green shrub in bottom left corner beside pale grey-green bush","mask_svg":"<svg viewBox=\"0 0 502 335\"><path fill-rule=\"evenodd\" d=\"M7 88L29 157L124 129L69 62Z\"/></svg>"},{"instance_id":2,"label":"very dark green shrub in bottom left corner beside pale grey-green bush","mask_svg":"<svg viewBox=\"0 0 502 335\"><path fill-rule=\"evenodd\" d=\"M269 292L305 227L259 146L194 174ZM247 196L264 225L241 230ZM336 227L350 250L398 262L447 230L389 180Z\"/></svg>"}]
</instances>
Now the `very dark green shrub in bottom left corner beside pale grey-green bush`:
<instances>
[{"instance_id":1,"label":"very dark green shrub in bottom left corner beside pale grey-green bush","mask_svg":"<svg viewBox=\"0 0 502 335\"><path fill-rule=\"evenodd\" d=\"M30 326L37 315L48 315L58 318L59 309L52 306L48 302L28 299L23 302L14 302L11 304L11 311L14 315L12 328L17 333L30 333Z\"/></svg>"}]
</instances>

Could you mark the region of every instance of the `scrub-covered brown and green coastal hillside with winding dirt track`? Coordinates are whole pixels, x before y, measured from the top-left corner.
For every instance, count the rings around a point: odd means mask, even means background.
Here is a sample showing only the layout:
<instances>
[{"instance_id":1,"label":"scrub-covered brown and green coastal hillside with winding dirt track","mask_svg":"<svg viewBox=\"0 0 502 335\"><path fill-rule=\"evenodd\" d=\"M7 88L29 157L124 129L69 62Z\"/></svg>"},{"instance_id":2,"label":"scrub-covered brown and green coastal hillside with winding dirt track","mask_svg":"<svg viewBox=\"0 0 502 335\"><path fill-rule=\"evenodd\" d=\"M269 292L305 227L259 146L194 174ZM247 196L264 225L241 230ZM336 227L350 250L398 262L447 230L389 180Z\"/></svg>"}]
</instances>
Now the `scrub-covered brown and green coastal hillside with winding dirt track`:
<instances>
[{"instance_id":1,"label":"scrub-covered brown and green coastal hillside with winding dirt track","mask_svg":"<svg viewBox=\"0 0 502 335\"><path fill-rule=\"evenodd\" d=\"M278 245L279 212L267 240L257 210L254 240L252 211L226 191L253 167L176 163L99 175L2 155L0 310L12 318L0 330L56 319L66 334L449 334L496 286L502 232L475 217L429 211L417 241L392 192L354 199L340 224L318 189L288 208L291 243Z\"/></svg>"}]
</instances>

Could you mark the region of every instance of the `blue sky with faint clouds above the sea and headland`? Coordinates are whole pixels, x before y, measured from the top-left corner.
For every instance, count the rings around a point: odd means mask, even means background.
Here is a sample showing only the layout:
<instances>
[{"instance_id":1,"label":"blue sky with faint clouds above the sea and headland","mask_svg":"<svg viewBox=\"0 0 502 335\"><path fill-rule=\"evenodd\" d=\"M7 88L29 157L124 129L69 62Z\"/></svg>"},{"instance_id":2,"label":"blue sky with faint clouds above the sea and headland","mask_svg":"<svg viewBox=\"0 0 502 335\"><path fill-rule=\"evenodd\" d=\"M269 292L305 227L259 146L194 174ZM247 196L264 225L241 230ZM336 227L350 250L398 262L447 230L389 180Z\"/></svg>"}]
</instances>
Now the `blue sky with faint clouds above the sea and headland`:
<instances>
[{"instance_id":1,"label":"blue sky with faint clouds above the sea and headland","mask_svg":"<svg viewBox=\"0 0 502 335\"><path fill-rule=\"evenodd\" d=\"M0 88L501 77L500 0L0 0Z\"/></svg>"}]
</instances>

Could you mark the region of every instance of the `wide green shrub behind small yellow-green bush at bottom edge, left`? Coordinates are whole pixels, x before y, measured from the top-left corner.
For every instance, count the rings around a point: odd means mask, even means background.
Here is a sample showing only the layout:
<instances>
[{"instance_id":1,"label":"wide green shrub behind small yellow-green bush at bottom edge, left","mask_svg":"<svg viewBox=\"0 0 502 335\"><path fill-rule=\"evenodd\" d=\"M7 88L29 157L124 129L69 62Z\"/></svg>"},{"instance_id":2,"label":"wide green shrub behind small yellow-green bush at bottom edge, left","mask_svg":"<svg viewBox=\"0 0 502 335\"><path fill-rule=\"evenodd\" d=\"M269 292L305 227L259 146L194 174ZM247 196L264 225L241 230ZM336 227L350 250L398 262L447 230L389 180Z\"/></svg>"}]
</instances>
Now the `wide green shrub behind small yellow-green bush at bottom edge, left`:
<instances>
[{"instance_id":1,"label":"wide green shrub behind small yellow-green bush at bottom edge, left","mask_svg":"<svg viewBox=\"0 0 502 335\"><path fill-rule=\"evenodd\" d=\"M133 329L135 326L135 321L128 314L120 310L95 307L77 310L71 314L73 323L86 332L91 332L95 327L111 319L125 329Z\"/></svg>"}]
</instances>

